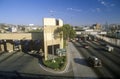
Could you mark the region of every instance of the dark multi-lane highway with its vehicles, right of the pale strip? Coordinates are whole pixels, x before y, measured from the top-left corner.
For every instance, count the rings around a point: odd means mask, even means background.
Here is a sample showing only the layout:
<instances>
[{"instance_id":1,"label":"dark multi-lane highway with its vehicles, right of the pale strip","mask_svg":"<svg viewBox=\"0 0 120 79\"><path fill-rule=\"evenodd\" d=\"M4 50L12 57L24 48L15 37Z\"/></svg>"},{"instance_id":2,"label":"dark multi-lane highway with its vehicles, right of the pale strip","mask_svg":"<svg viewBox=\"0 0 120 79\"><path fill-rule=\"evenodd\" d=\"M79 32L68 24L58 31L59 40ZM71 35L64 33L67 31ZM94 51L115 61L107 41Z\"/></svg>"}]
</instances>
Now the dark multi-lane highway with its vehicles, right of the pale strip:
<instances>
[{"instance_id":1,"label":"dark multi-lane highway with its vehicles, right of the pale strip","mask_svg":"<svg viewBox=\"0 0 120 79\"><path fill-rule=\"evenodd\" d=\"M120 77L120 48L103 40L77 40L75 48L99 78ZM89 46L89 48L85 47Z\"/></svg>"}]
</instances>

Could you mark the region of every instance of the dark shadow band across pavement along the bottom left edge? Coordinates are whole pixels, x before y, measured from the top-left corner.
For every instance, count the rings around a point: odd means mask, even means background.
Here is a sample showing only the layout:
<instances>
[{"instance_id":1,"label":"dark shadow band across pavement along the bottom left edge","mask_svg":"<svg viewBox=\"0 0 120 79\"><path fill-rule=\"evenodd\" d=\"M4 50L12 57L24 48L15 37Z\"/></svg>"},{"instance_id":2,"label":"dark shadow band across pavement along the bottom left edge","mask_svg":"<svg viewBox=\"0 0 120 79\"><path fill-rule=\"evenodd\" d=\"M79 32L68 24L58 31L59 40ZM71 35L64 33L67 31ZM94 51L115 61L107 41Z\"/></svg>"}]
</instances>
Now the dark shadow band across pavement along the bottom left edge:
<instances>
[{"instance_id":1,"label":"dark shadow band across pavement along the bottom left edge","mask_svg":"<svg viewBox=\"0 0 120 79\"><path fill-rule=\"evenodd\" d=\"M72 76L56 76L21 73L18 71L0 71L0 79L74 79Z\"/></svg>"}]
</instances>

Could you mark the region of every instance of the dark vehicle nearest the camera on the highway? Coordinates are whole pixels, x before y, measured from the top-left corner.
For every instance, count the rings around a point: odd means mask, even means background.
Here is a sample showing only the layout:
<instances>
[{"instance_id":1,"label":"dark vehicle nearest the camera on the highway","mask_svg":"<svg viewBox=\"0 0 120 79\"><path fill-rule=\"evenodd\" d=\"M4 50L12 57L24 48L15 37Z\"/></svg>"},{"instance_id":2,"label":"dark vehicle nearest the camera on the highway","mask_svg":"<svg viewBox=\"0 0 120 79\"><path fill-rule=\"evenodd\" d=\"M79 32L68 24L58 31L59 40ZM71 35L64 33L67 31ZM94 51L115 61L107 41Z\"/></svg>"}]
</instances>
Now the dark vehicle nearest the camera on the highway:
<instances>
[{"instance_id":1,"label":"dark vehicle nearest the camera on the highway","mask_svg":"<svg viewBox=\"0 0 120 79\"><path fill-rule=\"evenodd\" d=\"M88 58L88 63L90 64L90 66L92 67L102 67L102 62L100 59L98 59L95 56L90 56Z\"/></svg>"}]
</instances>

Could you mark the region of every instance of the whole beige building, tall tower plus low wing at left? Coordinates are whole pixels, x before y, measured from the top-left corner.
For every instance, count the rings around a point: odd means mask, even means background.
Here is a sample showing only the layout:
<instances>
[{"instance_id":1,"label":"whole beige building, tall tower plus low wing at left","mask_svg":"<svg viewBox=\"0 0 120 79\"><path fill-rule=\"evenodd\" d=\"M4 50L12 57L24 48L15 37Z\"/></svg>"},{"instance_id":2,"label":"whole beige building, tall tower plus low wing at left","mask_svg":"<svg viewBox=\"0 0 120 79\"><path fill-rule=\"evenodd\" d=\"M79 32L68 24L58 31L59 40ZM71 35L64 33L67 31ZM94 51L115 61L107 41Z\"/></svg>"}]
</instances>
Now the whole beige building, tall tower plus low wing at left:
<instances>
[{"instance_id":1,"label":"whole beige building, tall tower plus low wing at left","mask_svg":"<svg viewBox=\"0 0 120 79\"><path fill-rule=\"evenodd\" d=\"M63 26L63 21L55 18L44 18L43 25L43 32L0 33L0 51L13 51L15 49L14 42L17 40L20 42L20 49L25 52L43 49L45 60L48 60L49 54L56 55L56 49L63 48L63 33L55 32L57 28Z\"/></svg>"}]
</instances>

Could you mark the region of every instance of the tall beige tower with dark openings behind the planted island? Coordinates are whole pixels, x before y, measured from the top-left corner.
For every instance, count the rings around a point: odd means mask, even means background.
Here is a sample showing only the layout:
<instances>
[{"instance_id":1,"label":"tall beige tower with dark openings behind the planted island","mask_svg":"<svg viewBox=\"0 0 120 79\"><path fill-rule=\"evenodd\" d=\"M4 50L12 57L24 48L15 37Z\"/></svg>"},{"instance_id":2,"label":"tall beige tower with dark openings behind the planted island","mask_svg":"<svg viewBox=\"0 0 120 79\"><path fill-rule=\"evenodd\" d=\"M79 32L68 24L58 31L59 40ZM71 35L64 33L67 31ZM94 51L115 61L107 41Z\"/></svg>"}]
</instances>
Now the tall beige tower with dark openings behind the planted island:
<instances>
[{"instance_id":1,"label":"tall beige tower with dark openings behind the planted island","mask_svg":"<svg viewBox=\"0 0 120 79\"><path fill-rule=\"evenodd\" d=\"M55 30L59 27L63 26L63 21L61 19L55 18L44 18L44 53L45 60L48 59L49 54L56 54L57 48L63 48L63 35L61 37L57 37Z\"/></svg>"}]
</instances>

